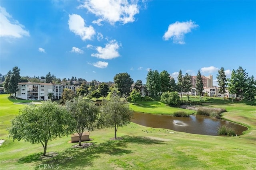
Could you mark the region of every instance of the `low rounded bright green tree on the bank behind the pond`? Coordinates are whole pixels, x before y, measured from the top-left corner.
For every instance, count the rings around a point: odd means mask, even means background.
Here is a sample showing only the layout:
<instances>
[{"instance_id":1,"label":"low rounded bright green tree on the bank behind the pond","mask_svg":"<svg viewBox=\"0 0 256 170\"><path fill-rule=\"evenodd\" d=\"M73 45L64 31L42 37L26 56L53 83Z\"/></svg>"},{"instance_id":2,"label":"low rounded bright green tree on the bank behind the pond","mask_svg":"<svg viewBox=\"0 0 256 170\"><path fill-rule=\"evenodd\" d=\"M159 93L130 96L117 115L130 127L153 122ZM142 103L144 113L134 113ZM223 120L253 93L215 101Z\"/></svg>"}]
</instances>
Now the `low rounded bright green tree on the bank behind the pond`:
<instances>
[{"instance_id":1,"label":"low rounded bright green tree on the bank behind the pond","mask_svg":"<svg viewBox=\"0 0 256 170\"><path fill-rule=\"evenodd\" d=\"M180 104L180 95L178 92L164 92L161 95L161 102L170 106L176 106Z\"/></svg>"}]
</instances>

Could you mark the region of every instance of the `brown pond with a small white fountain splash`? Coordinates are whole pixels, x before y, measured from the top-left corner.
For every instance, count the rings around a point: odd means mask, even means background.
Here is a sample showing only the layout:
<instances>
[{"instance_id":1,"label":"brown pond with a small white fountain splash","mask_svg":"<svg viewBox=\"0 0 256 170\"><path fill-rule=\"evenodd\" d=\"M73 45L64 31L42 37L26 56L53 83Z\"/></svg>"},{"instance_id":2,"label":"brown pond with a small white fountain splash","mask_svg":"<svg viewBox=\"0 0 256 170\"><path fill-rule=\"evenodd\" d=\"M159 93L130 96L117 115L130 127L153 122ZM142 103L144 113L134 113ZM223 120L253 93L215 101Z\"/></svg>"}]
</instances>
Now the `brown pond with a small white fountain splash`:
<instances>
[{"instance_id":1,"label":"brown pond with a small white fountain splash","mask_svg":"<svg viewBox=\"0 0 256 170\"><path fill-rule=\"evenodd\" d=\"M170 115L154 115L149 113L134 112L132 122L139 125L164 128L186 133L201 135L218 135L218 128L222 125L234 128L237 135L242 135L248 128L237 123L212 119L203 115L190 115L190 117L173 117Z\"/></svg>"}]
</instances>

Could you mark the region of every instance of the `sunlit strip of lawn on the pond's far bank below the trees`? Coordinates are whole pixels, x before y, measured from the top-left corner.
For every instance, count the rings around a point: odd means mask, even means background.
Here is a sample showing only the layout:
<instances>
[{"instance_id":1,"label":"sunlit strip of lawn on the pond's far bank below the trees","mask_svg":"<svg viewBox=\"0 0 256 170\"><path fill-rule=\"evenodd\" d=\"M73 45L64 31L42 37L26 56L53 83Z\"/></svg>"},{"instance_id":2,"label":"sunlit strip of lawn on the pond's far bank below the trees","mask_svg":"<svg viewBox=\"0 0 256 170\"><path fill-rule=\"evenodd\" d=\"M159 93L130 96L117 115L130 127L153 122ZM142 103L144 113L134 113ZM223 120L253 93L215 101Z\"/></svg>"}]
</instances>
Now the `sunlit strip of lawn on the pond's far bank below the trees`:
<instances>
[{"instance_id":1,"label":"sunlit strip of lawn on the pond's far bank below the trees","mask_svg":"<svg viewBox=\"0 0 256 170\"><path fill-rule=\"evenodd\" d=\"M176 111L184 111L188 114L195 113L193 110L181 109L178 107L170 107L160 101L153 102L136 102L130 103L130 108L134 111L144 112L144 113L153 113L153 114L170 114L172 115Z\"/></svg>"}]
</instances>

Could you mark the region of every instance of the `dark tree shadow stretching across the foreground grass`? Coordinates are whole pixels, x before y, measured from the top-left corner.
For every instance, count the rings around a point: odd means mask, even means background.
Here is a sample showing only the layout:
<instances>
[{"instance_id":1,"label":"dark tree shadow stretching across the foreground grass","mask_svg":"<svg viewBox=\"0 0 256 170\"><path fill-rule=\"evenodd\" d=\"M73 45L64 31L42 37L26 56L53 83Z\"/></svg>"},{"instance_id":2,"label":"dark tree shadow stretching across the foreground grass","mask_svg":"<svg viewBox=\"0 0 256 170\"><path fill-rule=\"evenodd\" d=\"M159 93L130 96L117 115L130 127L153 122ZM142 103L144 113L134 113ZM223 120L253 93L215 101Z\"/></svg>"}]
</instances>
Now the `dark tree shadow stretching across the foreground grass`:
<instances>
[{"instance_id":1,"label":"dark tree shadow stretching across the foreground grass","mask_svg":"<svg viewBox=\"0 0 256 170\"><path fill-rule=\"evenodd\" d=\"M128 143L136 143L140 145L153 145L162 144L163 141L150 139L148 137L138 137L138 136L123 136L123 140L117 141L106 141L104 143L94 143L91 147L87 149L80 148L67 148L62 152L59 152L56 156L46 156L42 157L42 152L30 154L24 156L18 160L18 164L26 164L34 162L36 166L34 169L40 169L42 164L57 165L60 169L79 169L82 167L92 166L94 159L100 157L100 154L110 154L110 155L124 155L133 153L132 150L128 150ZM46 152L46 155L47 152ZM42 168L42 167L41 167Z\"/></svg>"}]
</instances>

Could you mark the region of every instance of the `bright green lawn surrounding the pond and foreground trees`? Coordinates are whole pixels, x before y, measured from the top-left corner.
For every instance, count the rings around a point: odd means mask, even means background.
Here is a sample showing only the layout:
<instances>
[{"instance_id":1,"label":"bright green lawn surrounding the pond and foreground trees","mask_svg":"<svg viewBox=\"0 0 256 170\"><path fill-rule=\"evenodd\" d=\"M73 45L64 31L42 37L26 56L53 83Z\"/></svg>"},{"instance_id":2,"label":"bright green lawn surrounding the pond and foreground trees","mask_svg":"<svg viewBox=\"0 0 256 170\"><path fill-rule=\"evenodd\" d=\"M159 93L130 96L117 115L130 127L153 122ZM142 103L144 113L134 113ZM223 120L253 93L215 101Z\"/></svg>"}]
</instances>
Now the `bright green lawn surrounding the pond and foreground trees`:
<instances>
[{"instance_id":1,"label":"bright green lawn surrounding the pond and foreground trees","mask_svg":"<svg viewBox=\"0 0 256 170\"><path fill-rule=\"evenodd\" d=\"M9 122L23 105L14 105L0 95L0 121ZM166 110L160 102L145 102L144 109ZM141 103L142 104L142 103ZM57 156L41 158L42 145L7 139L6 127L0 124L0 138L6 139L0 147L0 169L33 170L40 164L57 165L59 169L161 169L161 170L252 170L256 169L256 107L249 104L206 104L208 107L225 107L224 117L250 126L239 137L195 135L144 127L135 123L119 128L122 141L110 141L114 129L100 129L90 133L94 146L89 149L72 149L70 136L48 143L47 153ZM7 108L8 107L8 108ZM131 106L132 107L132 106ZM136 106L140 107L140 106ZM173 108L171 108L173 109ZM171 110L169 108L169 112ZM175 108L176 109L176 108ZM142 111L146 112L146 111ZM146 133L145 131L152 133ZM173 132L173 133L169 133ZM47 154L46 153L46 154Z\"/></svg>"}]
</instances>

